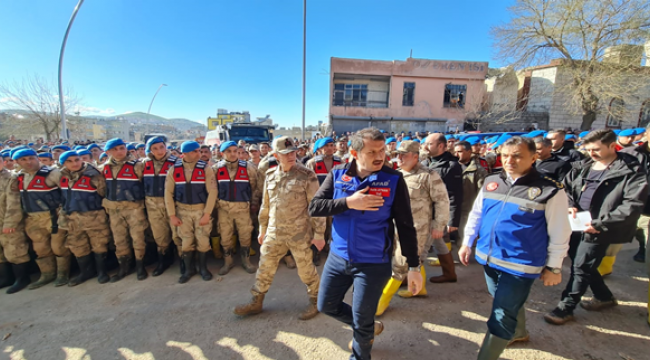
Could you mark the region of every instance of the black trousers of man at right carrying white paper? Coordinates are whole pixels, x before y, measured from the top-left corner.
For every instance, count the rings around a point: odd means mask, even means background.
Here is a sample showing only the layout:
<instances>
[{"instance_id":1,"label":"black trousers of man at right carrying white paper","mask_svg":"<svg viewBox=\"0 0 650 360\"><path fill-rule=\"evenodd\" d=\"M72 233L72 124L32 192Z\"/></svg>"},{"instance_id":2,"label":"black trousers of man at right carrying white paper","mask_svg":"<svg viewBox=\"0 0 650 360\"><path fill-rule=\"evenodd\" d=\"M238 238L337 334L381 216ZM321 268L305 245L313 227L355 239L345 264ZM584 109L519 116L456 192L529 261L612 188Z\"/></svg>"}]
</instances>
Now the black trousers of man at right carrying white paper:
<instances>
[{"instance_id":1,"label":"black trousers of man at right carrying white paper","mask_svg":"<svg viewBox=\"0 0 650 360\"><path fill-rule=\"evenodd\" d=\"M601 301L611 300L614 295L603 277L598 272L598 266L603 260L609 244L596 244L582 241L583 233L573 232L569 245L569 258L571 259L571 277L569 283L562 292L562 300L558 308L572 313L578 306L582 296L588 288L594 293L594 297Z\"/></svg>"}]
</instances>

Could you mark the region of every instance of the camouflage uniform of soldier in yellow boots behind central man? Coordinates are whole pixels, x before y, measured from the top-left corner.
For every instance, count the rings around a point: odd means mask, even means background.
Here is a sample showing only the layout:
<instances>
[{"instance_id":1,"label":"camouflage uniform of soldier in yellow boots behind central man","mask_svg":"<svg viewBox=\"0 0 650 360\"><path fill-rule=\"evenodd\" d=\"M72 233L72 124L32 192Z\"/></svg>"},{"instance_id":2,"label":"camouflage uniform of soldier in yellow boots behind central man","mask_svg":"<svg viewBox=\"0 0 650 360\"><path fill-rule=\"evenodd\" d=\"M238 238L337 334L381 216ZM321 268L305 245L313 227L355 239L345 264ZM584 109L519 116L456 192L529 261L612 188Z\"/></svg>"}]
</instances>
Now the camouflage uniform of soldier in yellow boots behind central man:
<instances>
[{"instance_id":1,"label":"camouflage uniform of soldier in yellow boots behind central man","mask_svg":"<svg viewBox=\"0 0 650 360\"><path fill-rule=\"evenodd\" d=\"M449 196L445 183L440 175L434 170L418 163L411 171L399 169L404 175L404 181L408 187L411 199L411 212L413 213L413 225L418 238L418 254L420 260L427 257L432 241L431 231L443 231L449 222ZM434 217L435 214L435 217ZM395 234L396 239L397 234ZM442 243L442 239L437 239ZM395 255L393 257L393 278L403 281L408 274L406 257L402 256L399 241L395 241Z\"/></svg>"}]
</instances>

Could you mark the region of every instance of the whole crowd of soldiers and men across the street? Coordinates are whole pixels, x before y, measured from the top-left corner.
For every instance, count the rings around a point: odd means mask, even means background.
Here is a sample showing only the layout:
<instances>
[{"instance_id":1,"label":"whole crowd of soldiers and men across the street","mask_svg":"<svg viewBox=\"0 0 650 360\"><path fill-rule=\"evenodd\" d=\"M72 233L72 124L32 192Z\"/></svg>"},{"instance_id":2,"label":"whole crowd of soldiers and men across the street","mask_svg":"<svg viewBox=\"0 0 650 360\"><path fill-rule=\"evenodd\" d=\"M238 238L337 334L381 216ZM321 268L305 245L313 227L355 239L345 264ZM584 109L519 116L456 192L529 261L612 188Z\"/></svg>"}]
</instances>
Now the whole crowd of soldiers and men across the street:
<instances>
[{"instance_id":1,"label":"whole crowd of soldiers and men across the street","mask_svg":"<svg viewBox=\"0 0 650 360\"><path fill-rule=\"evenodd\" d=\"M250 301L235 314L262 312L284 261L307 288L299 319L322 312L350 325L351 359L370 359L374 336L383 331L375 319L395 294L427 294L423 264L430 253L441 274L429 281L458 281L453 242L463 265L472 253L483 265L494 299L479 360L498 359L509 344L528 341L523 306L533 281L561 283L565 257L569 282L544 315L554 325L574 320L578 305L589 311L617 305L603 277L624 243L638 240L634 260L650 273L650 147L643 128L579 134L367 128L308 141L179 147L162 137L146 144L10 140L0 156L0 287L8 294L92 278L117 282L133 268L145 280L148 239L157 252L152 275L177 253L179 283L197 273L211 280L210 253L223 258L218 273L227 275L239 252L255 280ZM586 220L576 225L570 218ZM258 266L250 262L253 239L261 246ZM118 263L112 276L109 253ZM40 270L35 282L33 257ZM73 258L79 272L71 277ZM351 286L353 301L346 304ZM593 297L582 300L588 288Z\"/></svg>"}]
</instances>

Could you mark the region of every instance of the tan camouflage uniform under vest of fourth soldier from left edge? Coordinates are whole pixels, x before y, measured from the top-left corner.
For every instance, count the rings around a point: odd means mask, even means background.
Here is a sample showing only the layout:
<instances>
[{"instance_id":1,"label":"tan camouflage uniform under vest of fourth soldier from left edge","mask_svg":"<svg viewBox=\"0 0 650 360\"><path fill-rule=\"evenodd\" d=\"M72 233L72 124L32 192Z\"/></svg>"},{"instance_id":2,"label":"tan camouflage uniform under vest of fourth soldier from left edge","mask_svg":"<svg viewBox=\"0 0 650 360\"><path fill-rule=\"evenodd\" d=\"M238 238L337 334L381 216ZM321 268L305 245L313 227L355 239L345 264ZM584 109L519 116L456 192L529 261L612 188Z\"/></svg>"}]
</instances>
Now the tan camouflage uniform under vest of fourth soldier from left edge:
<instances>
[{"instance_id":1,"label":"tan camouflage uniform under vest of fourth soldier from left edge","mask_svg":"<svg viewBox=\"0 0 650 360\"><path fill-rule=\"evenodd\" d=\"M131 160L135 160L131 155L121 161L116 161L110 157L106 163L100 166L99 171L103 172L108 166L111 168L111 173L115 179L124 164ZM142 162L136 162L134 171L140 181L142 181L143 170L144 165ZM122 190L118 188L117 192L120 191ZM111 201L104 199L103 205L108 213L110 228L115 240L115 255L118 258L130 256L131 248L133 248L136 260L142 260L146 248L144 232L149 226L144 212L144 200Z\"/></svg>"}]
</instances>

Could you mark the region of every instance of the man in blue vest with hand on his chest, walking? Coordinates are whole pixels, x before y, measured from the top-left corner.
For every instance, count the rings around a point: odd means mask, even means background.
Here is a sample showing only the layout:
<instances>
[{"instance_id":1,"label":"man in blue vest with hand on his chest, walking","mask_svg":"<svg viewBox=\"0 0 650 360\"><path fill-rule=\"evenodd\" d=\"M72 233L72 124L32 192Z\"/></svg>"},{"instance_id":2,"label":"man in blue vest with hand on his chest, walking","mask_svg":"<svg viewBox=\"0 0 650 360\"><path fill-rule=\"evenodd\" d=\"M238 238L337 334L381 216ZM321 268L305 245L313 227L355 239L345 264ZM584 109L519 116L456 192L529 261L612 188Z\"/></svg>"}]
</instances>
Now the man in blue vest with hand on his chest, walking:
<instances>
[{"instance_id":1,"label":"man in blue vest with hand on his chest, walking","mask_svg":"<svg viewBox=\"0 0 650 360\"><path fill-rule=\"evenodd\" d=\"M400 172L384 166L383 134L375 128L360 130L351 145L352 161L327 175L309 205L309 214L333 216L318 310L352 327L350 359L366 360L374 336L383 330L374 316L391 277L395 226L414 295L422 288L422 276L408 189ZM351 306L343 302L350 286L354 286Z\"/></svg>"}]
</instances>

